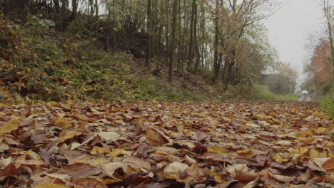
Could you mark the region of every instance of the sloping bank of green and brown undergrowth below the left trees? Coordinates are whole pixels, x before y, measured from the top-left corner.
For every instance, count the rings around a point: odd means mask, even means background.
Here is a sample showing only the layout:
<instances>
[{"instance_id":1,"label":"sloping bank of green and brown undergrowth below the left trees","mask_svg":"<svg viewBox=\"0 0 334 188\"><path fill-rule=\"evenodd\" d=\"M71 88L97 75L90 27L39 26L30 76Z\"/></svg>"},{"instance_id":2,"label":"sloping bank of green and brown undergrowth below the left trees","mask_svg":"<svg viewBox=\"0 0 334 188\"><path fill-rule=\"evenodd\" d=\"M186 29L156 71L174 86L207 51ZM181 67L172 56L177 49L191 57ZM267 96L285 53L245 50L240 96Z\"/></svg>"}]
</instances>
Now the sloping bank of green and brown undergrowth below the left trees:
<instances>
[{"instance_id":1,"label":"sloping bank of green and brown undergrowth below the left trees","mask_svg":"<svg viewBox=\"0 0 334 188\"><path fill-rule=\"evenodd\" d=\"M206 70L172 83L163 58L151 67L132 53L110 53L90 38L54 30L52 21L31 16L26 23L1 17L0 100L260 100L253 85L211 82ZM184 73L186 74L186 73Z\"/></svg>"}]
</instances>

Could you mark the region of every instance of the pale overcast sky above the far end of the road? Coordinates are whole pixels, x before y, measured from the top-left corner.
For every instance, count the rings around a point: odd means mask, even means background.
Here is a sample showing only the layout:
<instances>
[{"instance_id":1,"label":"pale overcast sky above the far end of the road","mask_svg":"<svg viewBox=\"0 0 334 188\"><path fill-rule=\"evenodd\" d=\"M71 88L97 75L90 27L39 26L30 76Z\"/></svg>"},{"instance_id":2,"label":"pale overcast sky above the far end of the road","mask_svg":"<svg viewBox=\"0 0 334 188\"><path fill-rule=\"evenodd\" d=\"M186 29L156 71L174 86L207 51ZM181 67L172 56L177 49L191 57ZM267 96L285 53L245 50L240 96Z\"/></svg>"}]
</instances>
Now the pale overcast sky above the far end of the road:
<instances>
[{"instance_id":1,"label":"pale overcast sky above the far end of the road","mask_svg":"<svg viewBox=\"0 0 334 188\"><path fill-rule=\"evenodd\" d=\"M321 3L320 0L280 1L283 2L282 8L263 22L280 60L290 62L291 67L301 75L308 36L324 28Z\"/></svg>"}]
</instances>

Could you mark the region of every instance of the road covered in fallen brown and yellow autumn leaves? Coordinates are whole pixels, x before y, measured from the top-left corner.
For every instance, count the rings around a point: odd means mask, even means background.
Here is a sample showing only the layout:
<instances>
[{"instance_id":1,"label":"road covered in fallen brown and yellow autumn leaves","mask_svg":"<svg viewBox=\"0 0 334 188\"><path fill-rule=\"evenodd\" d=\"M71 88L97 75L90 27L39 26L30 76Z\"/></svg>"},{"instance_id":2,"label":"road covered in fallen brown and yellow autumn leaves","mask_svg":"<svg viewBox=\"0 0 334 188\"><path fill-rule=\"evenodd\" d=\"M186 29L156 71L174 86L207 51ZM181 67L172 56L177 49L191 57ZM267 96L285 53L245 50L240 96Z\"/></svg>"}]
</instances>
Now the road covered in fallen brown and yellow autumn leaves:
<instances>
[{"instance_id":1,"label":"road covered in fallen brown and yellow autumn leaves","mask_svg":"<svg viewBox=\"0 0 334 188\"><path fill-rule=\"evenodd\" d=\"M1 187L333 187L313 103L0 105Z\"/></svg>"}]
</instances>

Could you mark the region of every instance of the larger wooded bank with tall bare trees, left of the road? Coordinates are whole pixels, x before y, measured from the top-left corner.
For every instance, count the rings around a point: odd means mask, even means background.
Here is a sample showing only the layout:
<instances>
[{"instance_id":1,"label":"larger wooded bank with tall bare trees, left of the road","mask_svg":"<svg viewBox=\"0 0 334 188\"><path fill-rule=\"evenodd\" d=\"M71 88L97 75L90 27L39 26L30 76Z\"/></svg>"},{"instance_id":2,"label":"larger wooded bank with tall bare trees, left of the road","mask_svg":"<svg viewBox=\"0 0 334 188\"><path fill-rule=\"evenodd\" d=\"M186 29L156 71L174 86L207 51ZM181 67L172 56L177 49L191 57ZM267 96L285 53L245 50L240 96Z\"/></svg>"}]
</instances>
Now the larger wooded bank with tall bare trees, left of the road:
<instances>
[{"instance_id":1,"label":"larger wooded bank with tall bare trees, left of the road","mask_svg":"<svg viewBox=\"0 0 334 188\"><path fill-rule=\"evenodd\" d=\"M1 5L0 77L16 98L279 100L295 91L296 71L260 23L275 1Z\"/></svg>"}]
</instances>

